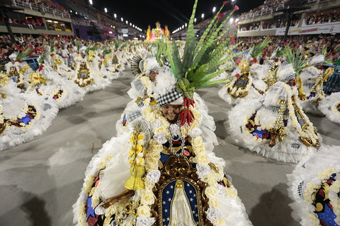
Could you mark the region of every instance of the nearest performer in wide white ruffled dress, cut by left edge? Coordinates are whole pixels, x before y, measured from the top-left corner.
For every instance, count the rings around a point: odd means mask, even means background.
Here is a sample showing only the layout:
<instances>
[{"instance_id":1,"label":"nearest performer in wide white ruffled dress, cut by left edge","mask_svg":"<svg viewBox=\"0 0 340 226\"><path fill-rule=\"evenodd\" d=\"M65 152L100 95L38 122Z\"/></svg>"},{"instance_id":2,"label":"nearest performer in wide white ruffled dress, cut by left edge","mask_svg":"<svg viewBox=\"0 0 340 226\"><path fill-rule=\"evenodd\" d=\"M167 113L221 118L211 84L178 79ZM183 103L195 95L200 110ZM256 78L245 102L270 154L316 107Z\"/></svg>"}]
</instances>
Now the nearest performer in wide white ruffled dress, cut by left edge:
<instances>
[{"instance_id":1,"label":"nearest performer in wide white ruffled dress, cut by left edge","mask_svg":"<svg viewBox=\"0 0 340 226\"><path fill-rule=\"evenodd\" d=\"M0 81L0 150L4 150L40 135L56 117L58 107L45 95L21 93L4 73Z\"/></svg>"}]
</instances>

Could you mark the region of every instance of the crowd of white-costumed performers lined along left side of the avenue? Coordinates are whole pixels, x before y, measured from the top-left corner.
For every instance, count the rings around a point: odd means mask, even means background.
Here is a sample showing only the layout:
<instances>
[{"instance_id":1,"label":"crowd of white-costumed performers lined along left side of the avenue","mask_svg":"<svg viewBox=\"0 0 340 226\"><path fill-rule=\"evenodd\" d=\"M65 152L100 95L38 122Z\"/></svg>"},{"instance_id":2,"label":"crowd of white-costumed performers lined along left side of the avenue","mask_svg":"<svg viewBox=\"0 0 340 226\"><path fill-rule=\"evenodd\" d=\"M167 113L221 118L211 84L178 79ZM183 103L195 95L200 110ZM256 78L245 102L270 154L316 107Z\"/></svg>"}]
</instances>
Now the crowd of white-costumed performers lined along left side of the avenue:
<instances>
[{"instance_id":1,"label":"crowd of white-costumed performers lined along left side of the avenue","mask_svg":"<svg viewBox=\"0 0 340 226\"><path fill-rule=\"evenodd\" d=\"M44 132L60 108L101 90L130 66L137 42L103 42L84 45L63 56L66 43L46 44L36 71L24 61L30 48L13 52L0 73L0 150L33 139Z\"/></svg>"}]
</instances>

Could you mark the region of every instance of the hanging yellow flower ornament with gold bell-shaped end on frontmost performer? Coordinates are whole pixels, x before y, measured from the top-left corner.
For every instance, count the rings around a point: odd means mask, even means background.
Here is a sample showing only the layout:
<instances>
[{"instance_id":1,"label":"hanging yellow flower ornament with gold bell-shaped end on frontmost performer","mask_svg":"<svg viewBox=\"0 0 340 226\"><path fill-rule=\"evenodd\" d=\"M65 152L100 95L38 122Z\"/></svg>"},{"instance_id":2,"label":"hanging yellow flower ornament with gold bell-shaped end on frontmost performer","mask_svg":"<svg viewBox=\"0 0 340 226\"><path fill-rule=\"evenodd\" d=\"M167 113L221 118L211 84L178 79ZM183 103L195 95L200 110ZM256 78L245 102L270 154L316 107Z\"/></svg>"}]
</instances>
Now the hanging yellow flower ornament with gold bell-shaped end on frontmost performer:
<instances>
[{"instance_id":1,"label":"hanging yellow flower ornament with gold bell-shaped end on frontmost performer","mask_svg":"<svg viewBox=\"0 0 340 226\"><path fill-rule=\"evenodd\" d=\"M130 138L131 149L129 151L130 174L131 176L125 182L125 188L136 191L145 189L142 177L145 174L145 151L144 136L137 130L133 131Z\"/></svg>"}]
</instances>

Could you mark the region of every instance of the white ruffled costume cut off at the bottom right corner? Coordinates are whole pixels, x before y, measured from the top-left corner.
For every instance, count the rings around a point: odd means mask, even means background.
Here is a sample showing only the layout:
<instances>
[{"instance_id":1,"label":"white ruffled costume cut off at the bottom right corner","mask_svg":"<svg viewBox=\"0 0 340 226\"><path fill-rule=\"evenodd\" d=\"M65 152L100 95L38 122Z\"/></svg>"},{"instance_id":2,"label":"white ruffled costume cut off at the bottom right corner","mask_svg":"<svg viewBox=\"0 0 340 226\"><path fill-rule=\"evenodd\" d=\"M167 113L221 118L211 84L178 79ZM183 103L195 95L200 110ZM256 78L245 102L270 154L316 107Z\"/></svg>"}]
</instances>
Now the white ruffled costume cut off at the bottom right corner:
<instances>
[{"instance_id":1,"label":"white ruffled costume cut off at the bottom right corner","mask_svg":"<svg viewBox=\"0 0 340 226\"><path fill-rule=\"evenodd\" d=\"M300 225L340 225L339 148L322 145L287 175L289 206Z\"/></svg>"}]
</instances>

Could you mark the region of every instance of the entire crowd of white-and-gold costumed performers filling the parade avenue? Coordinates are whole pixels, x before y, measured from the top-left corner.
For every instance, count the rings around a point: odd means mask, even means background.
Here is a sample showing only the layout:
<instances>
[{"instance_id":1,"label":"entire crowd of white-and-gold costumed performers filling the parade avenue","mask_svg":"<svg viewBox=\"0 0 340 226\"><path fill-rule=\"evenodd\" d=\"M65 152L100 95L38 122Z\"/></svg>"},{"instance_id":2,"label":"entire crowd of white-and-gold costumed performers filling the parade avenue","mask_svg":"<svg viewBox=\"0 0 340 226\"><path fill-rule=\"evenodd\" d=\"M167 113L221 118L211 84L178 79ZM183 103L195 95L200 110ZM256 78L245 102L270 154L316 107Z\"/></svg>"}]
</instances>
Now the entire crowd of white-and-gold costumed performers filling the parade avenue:
<instances>
[{"instance_id":1,"label":"entire crowd of white-and-gold costumed performers filling the parade avenue","mask_svg":"<svg viewBox=\"0 0 340 226\"><path fill-rule=\"evenodd\" d=\"M340 225L340 149L322 143L306 114L340 123L339 93L326 97L322 90L334 72L322 69L327 54L306 59L288 45L259 64L266 39L235 62L239 43L209 35L223 35L217 15L195 42L193 13L179 46L79 43L66 60L48 45L37 71L18 61L23 52L12 54L1 73L1 150L42 133L60 107L105 88L128 67L135 76L132 100L116 123L117 135L86 169L74 224L251 225L223 172L225 160L213 151L215 122L196 93L225 83L219 95L231 107L225 126L234 142L297 164L288 175L293 218L301 225Z\"/></svg>"}]
</instances>

